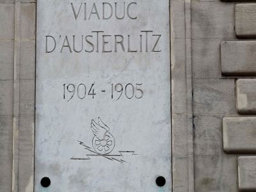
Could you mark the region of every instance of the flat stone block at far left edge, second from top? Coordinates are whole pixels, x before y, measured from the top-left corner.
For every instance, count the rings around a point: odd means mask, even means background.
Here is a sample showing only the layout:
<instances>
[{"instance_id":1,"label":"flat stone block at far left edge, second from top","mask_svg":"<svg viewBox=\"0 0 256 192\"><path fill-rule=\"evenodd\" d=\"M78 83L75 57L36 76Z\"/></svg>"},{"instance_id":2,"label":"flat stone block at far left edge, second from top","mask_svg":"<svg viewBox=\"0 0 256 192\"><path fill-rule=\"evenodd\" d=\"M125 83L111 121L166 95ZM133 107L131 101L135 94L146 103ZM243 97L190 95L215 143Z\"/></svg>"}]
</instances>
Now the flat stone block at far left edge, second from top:
<instances>
[{"instance_id":1,"label":"flat stone block at far left edge, second from top","mask_svg":"<svg viewBox=\"0 0 256 192\"><path fill-rule=\"evenodd\" d=\"M0 41L0 80L13 79L14 41Z\"/></svg>"}]
</instances>

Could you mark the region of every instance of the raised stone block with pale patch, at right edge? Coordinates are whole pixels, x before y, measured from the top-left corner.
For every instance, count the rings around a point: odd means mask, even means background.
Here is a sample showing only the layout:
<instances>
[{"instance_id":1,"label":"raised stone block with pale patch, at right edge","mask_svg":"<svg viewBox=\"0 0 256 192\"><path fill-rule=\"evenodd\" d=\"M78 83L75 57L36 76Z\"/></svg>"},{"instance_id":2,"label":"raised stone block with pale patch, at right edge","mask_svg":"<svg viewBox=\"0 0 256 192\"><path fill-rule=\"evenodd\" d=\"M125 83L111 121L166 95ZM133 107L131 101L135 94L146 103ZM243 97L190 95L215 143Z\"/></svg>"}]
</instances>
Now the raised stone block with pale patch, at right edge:
<instances>
[{"instance_id":1,"label":"raised stone block with pale patch, at right edge","mask_svg":"<svg viewBox=\"0 0 256 192\"><path fill-rule=\"evenodd\" d=\"M238 113L256 114L256 79L238 79L236 89Z\"/></svg>"}]
</instances>

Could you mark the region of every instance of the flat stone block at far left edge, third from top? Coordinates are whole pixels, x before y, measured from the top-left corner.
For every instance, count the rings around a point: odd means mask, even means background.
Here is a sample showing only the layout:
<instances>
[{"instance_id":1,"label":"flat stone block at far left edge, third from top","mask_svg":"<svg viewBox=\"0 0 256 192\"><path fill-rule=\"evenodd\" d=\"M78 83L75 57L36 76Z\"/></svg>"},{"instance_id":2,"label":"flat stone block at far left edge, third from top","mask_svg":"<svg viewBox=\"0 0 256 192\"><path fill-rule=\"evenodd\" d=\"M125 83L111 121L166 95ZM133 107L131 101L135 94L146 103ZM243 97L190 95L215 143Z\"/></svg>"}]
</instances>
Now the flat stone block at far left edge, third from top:
<instances>
[{"instance_id":1,"label":"flat stone block at far left edge, third from top","mask_svg":"<svg viewBox=\"0 0 256 192\"><path fill-rule=\"evenodd\" d=\"M0 115L13 115L13 80L0 81Z\"/></svg>"}]
</instances>

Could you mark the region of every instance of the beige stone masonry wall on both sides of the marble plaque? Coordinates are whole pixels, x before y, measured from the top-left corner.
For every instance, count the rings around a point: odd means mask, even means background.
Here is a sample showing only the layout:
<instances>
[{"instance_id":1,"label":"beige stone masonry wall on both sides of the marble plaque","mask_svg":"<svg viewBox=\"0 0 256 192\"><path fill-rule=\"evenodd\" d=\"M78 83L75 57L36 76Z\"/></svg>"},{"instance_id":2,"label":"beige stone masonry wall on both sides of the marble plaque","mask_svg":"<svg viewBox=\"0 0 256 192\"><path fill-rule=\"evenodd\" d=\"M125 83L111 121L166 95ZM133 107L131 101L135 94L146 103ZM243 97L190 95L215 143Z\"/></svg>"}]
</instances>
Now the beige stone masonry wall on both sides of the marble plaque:
<instances>
[{"instance_id":1,"label":"beige stone masonry wall on both sides of the marble plaque","mask_svg":"<svg viewBox=\"0 0 256 192\"><path fill-rule=\"evenodd\" d=\"M29 192L36 2L0 13L0 192ZM173 191L256 191L255 3L171 0L170 20Z\"/></svg>"}]
</instances>

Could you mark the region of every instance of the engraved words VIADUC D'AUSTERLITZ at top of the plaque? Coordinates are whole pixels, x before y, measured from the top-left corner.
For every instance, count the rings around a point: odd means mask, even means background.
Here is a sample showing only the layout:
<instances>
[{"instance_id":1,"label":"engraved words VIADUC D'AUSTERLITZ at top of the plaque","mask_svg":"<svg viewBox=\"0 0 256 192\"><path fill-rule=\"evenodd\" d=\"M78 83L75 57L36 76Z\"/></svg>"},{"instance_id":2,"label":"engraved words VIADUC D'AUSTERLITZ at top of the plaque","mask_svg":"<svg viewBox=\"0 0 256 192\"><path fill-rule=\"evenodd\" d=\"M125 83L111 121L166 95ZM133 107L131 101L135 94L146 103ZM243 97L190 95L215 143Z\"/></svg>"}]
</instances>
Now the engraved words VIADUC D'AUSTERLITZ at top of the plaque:
<instances>
[{"instance_id":1,"label":"engraved words VIADUC D'AUSTERLITZ at top of the plaque","mask_svg":"<svg viewBox=\"0 0 256 192\"><path fill-rule=\"evenodd\" d=\"M77 10L73 3L70 3L70 9L74 15L74 19L78 20L79 13L82 12L81 8L83 3L77 6ZM92 5L90 12L86 12L86 3L84 3L84 20L90 19L103 19L108 20L111 17L115 19L128 19L136 20L137 16L132 8L136 8L137 3L129 3L123 6L118 6L118 3L111 5L110 3L102 3L102 14L99 14L95 3ZM121 15L118 15L118 8L122 7ZM108 8L108 12L106 12ZM102 17L100 17L102 15ZM115 15L115 16L114 16ZM45 52L50 53L56 50L63 52L161 52L159 48L159 40L161 35L152 30L141 30L138 35L124 35L124 34L106 34L104 31L97 30L91 31L87 35L60 35L52 36L45 35ZM132 42L138 42L132 44Z\"/></svg>"}]
</instances>

